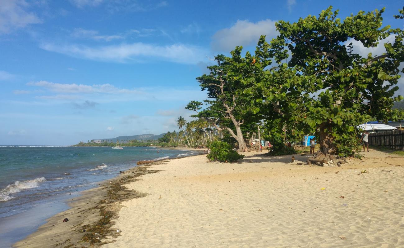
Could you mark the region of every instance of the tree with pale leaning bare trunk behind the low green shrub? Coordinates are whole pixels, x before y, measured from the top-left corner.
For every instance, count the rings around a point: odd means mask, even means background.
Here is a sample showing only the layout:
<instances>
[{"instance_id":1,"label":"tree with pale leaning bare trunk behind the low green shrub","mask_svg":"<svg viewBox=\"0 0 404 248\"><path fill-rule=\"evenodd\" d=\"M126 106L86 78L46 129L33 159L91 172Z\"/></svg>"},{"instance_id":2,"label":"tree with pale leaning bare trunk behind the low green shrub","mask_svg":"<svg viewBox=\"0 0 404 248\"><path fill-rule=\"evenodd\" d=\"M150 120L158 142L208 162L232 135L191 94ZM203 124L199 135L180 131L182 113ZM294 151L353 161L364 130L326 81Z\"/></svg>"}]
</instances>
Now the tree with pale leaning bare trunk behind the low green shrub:
<instances>
[{"instance_id":1,"label":"tree with pale leaning bare trunk behind the low green shrub","mask_svg":"<svg viewBox=\"0 0 404 248\"><path fill-rule=\"evenodd\" d=\"M243 93L248 87L243 82L243 75L252 66L253 60L249 52L242 57L241 51L240 46L231 51L230 57L215 56L217 64L208 67L210 73L196 78L201 89L208 93L209 99L204 100L207 107L200 110L202 103L191 101L186 108L197 112L197 115L192 117L208 121L217 130L228 131L238 143L238 150L246 152L246 133L255 129L260 118L248 107L254 100L253 97Z\"/></svg>"}]
</instances>

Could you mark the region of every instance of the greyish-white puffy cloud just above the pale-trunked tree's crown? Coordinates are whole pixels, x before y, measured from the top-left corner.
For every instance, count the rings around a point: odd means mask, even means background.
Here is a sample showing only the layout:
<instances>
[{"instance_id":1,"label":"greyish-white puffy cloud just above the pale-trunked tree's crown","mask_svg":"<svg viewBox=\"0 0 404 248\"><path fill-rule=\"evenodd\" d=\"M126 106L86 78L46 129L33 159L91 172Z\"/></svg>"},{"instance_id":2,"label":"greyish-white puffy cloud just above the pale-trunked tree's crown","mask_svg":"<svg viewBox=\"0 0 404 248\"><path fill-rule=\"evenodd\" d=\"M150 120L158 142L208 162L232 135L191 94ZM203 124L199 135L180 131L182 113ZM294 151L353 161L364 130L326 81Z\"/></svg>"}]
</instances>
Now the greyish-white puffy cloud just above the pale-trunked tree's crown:
<instances>
[{"instance_id":1,"label":"greyish-white puffy cloud just above the pale-trunked tree's crown","mask_svg":"<svg viewBox=\"0 0 404 248\"><path fill-rule=\"evenodd\" d=\"M214 50L233 50L236 46L250 46L258 43L260 35L267 35L267 39L278 34L275 21L266 19L252 23L248 20L238 20L230 28L217 31L213 35L211 46Z\"/></svg>"}]
</instances>

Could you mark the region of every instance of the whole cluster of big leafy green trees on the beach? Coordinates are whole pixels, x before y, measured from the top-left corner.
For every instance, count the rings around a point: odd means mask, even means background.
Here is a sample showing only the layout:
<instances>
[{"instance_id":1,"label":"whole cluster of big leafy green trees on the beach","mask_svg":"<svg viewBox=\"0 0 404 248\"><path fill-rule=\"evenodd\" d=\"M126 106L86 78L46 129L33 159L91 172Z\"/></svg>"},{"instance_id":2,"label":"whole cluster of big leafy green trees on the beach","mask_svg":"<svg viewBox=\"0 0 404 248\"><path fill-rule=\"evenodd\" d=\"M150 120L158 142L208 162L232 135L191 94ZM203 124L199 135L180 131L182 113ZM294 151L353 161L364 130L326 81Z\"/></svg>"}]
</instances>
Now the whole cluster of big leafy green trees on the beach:
<instances>
[{"instance_id":1,"label":"whole cluster of big leafy green trees on the beach","mask_svg":"<svg viewBox=\"0 0 404 248\"><path fill-rule=\"evenodd\" d=\"M352 156L357 125L403 116L393 105L402 100L396 91L404 33L383 26L383 12L360 11L341 20L330 6L317 17L279 21L279 35L270 42L261 36L254 54L242 56L237 46L231 56L215 56L210 73L196 78L208 99L186 108L217 132L226 131L224 138L234 138L239 151L247 150L246 140L259 125L263 138L279 150L314 133L320 151L311 162ZM403 15L400 10L396 18ZM364 55L358 48L379 43L383 54Z\"/></svg>"}]
</instances>

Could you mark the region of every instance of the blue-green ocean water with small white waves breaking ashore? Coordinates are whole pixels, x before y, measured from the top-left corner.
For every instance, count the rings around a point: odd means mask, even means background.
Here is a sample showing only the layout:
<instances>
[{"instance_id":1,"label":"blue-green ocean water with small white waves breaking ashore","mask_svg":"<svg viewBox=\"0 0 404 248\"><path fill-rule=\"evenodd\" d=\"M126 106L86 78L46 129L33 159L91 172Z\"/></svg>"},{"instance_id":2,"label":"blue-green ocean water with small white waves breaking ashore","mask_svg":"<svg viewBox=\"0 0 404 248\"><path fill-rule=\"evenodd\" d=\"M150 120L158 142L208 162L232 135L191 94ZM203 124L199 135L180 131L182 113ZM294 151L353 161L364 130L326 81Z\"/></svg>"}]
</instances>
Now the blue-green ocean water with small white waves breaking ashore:
<instances>
[{"instance_id":1,"label":"blue-green ocean water with small white waves breaking ashore","mask_svg":"<svg viewBox=\"0 0 404 248\"><path fill-rule=\"evenodd\" d=\"M0 146L0 247L10 247L67 209L64 200L139 160L197 153L154 147Z\"/></svg>"}]
</instances>

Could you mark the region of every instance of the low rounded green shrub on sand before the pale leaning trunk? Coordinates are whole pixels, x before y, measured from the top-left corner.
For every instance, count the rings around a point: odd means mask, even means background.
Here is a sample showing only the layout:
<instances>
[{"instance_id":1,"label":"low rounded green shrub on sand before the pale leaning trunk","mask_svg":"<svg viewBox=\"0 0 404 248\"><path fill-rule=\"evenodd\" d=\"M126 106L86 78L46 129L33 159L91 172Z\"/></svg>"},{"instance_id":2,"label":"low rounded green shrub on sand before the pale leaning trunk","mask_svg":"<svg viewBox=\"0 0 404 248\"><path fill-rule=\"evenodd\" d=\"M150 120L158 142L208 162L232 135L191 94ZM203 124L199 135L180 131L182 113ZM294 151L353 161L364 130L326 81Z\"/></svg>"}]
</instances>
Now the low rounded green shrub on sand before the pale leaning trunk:
<instances>
[{"instance_id":1,"label":"low rounded green shrub on sand before the pale leaning trunk","mask_svg":"<svg viewBox=\"0 0 404 248\"><path fill-rule=\"evenodd\" d=\"M208 154L208 158L212 161L217 160L220 162L236 162L239 159L244 158L244 155L239 154L231 145L222 141L213 141L210 143L210 153Z\"/></svg>"}]
</instances>

